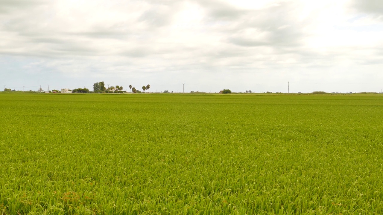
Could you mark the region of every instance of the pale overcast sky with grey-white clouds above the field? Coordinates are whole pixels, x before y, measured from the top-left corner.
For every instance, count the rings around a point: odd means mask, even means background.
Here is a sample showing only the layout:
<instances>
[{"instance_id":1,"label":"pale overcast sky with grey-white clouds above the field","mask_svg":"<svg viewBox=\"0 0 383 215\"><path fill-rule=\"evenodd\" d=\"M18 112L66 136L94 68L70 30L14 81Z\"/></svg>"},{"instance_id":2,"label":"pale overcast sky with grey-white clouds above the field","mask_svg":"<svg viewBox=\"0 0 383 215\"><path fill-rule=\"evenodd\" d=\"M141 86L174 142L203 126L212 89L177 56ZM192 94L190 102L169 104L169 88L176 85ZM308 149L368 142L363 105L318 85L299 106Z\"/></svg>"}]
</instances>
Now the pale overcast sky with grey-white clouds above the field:
<instances>
[{"instance_id":1,"label":"pale overcast sky with grey-white clouds above the field","mask_svg":"<svg viewBox=\"0 0 383 215\"><path fill-rule=\"evenodd\" d=\"M0 0L0 84L380 92L382 0ZM3 86L1 86L3 87Z\"/></svg>"}]
</instances>

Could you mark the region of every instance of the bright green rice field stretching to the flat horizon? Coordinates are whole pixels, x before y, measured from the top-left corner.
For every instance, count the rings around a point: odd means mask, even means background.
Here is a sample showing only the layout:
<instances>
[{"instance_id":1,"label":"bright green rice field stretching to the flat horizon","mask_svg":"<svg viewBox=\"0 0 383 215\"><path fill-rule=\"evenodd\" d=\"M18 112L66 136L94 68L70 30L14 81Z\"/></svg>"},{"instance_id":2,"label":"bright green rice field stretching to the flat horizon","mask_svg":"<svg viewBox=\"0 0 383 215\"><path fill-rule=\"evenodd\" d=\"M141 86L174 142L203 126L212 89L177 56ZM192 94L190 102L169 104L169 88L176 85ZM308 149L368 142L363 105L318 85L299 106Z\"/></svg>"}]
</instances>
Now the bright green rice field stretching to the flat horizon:
<instances>
[{"instance_id":1,"label":"bright green rice field stretching to the flat horizon","mask_svg":"<svg viewBox=\"0 0 383 215\"><path fill-rule=\"evenodd\" d=\"M0 215L382 214L383 96L0 94Z\"/></svg>"}]
</instances>

